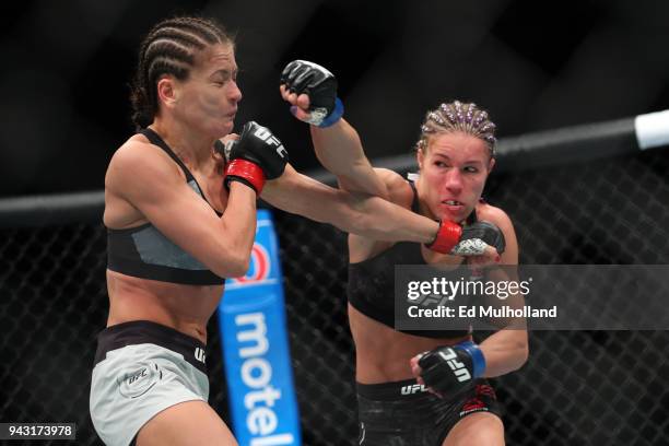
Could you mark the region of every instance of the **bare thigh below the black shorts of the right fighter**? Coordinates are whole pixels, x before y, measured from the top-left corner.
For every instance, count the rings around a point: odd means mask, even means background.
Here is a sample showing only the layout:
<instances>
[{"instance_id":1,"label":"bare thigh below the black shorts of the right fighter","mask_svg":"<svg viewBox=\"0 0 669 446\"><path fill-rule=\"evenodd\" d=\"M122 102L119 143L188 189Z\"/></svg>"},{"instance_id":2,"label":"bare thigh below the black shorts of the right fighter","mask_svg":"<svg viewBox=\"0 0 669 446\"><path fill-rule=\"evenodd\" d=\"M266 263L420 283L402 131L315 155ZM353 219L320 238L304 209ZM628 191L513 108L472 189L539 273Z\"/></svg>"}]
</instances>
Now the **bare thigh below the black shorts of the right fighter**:
<instances>
[{"instance_id":1,"label":"bare thigh below the black shorts of the right fighter","mask_svg":"<svg viewBox=\"0 0 669 446\"><path fill-rule=\"evenodd\" d=\"M504 424L492 413L471 413L456 423L443 446L504 446Z\"/></svg>"}]
</instances>

